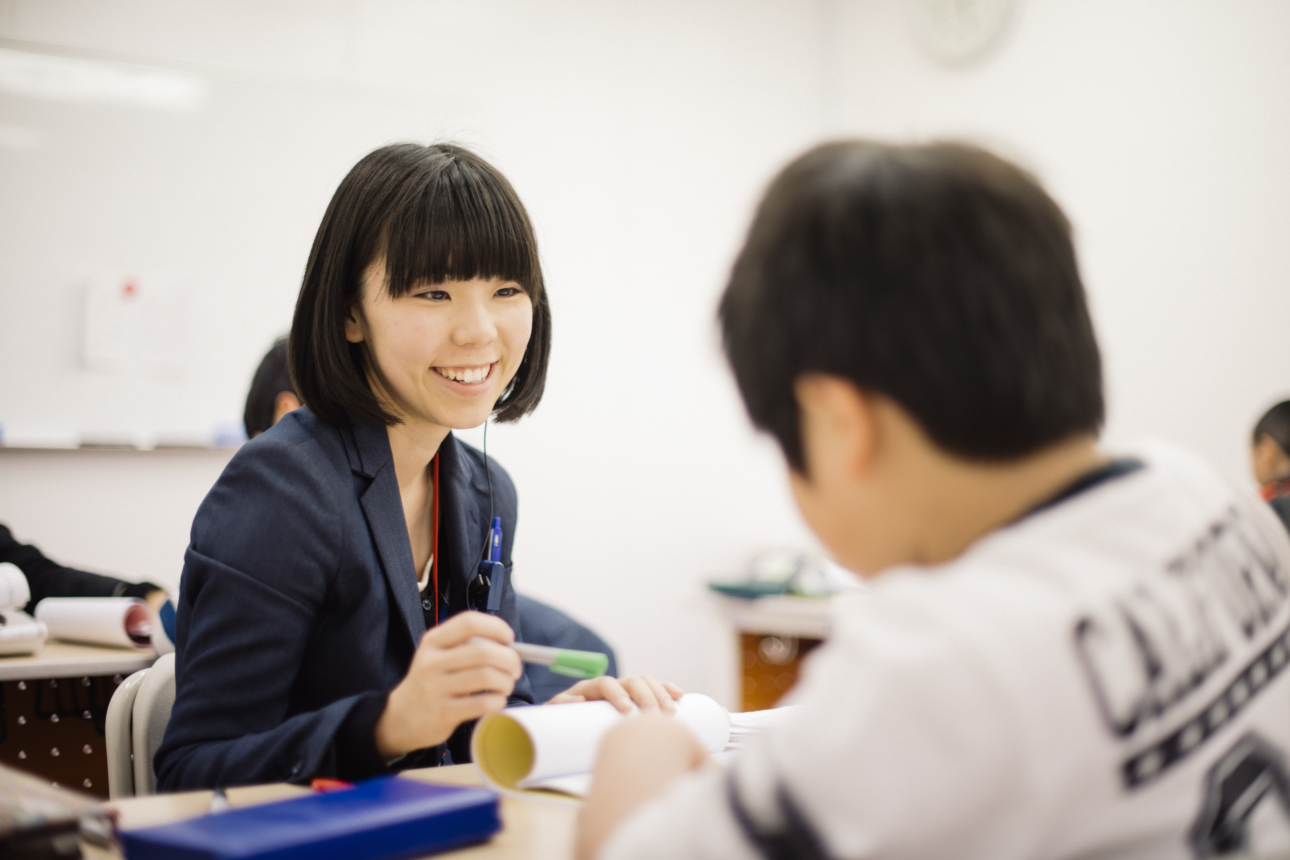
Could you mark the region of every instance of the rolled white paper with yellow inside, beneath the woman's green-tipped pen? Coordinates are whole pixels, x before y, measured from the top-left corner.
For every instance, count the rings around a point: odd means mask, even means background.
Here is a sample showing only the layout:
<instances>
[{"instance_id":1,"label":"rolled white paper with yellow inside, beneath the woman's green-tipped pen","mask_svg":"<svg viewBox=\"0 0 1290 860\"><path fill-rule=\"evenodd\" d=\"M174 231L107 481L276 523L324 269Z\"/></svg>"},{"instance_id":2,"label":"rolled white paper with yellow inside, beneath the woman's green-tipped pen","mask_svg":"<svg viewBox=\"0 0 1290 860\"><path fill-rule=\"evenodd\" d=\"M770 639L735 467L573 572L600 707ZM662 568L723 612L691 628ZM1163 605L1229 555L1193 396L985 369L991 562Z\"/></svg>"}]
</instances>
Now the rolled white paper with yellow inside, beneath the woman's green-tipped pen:
<instances>
[{"instance_id":1,"label":"rolled white paper with yellow inside, beneath the woman's green-tipped pen","mask_svg":"<svg viewBox=\"0 0 1290 860\"><path fill-rule=\"evenodd\" d=\"M584 793L600 741L623 714L608 701L507 708L481 719L471 738L471 756L484 779L501 789L555 788ZM676 719L703 749L721 752L730 738L725 709L698 692L676 703Z\"/></svg>"}]
</instances>

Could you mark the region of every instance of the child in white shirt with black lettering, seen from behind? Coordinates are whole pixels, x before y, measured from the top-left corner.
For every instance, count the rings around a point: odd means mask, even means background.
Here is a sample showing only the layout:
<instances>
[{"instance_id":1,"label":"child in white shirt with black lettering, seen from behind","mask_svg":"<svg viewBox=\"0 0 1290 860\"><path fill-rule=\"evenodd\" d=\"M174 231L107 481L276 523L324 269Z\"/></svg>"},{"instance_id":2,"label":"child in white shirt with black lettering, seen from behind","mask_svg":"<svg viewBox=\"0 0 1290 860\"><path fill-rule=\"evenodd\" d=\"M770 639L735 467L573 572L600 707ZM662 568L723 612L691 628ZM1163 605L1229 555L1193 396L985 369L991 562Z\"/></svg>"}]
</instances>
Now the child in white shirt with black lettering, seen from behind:
<instances>
[{"instance_id":1,"label":"child in white shirt with black lettering, seen from behind","mask_svg":"<svg viewBox=\"0 0 1290 860\"><path fill-rule=\"evenodd\" d=\"M720 316L802 514L873 585L731 763L618 726L580 857L1290 843L1290 542L1184 451L1098 447L1071 227L1031 175L958 144L808 152Z\"/></svg>"}]
</instances>

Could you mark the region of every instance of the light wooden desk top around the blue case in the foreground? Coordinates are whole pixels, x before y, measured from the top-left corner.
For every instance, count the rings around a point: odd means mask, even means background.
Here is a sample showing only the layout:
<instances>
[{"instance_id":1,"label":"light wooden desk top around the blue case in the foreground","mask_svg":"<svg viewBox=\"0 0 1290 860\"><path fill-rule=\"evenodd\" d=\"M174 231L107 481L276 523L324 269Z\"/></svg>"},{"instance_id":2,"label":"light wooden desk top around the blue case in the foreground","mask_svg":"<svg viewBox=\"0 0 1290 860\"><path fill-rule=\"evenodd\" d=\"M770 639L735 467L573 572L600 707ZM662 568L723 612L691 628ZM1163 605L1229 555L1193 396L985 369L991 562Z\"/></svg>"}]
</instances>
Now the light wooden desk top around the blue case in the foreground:
<instances>
[{"instance_id":1,"label":"light wooden desk top around the blue case in the foreground","mask_svg":"<svg viewBox=\"0 0 1290 860\"><path fill-rule=\"evenodd\" d=\"M482 785L473 765L426 767L404 771L401 775L427 783ZM270 803L307 793L306 788L286 784L250 785L227 790L228 803L233 807ZM433 856L471 857L472 860L488 860L489 857L497 860L568 860L573 856L578 806L573 801L503 796L502 830L495 837L484 845ZM117 826L129 830L203 815L210 808L210 792L134 797L112 801L107 803L107 807L117 811ZM95 850L93 846L85 846L85 856L92 860L108 860L117 856Z\"/></svg>"}]
</instances>

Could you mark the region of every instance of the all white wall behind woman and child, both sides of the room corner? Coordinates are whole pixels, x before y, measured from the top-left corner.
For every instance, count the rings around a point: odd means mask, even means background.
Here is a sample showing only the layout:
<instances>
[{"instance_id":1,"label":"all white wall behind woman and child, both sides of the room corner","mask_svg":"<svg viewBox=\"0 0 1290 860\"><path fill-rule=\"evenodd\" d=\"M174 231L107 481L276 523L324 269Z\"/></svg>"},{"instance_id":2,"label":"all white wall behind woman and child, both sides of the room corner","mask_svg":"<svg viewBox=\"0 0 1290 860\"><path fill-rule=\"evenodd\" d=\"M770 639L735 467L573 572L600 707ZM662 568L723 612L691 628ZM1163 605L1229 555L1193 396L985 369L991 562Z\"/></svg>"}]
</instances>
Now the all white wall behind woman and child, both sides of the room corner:
<instances>
[{"instance_id":1,"label":"all white wall behind woman and child, both sides of the room corner","mask_svg":"<svg viewBox=\"0 0 1290 860\"><path fill-rule=\"evenodd\" d=\"M555 308L546 401L489 438L520 487L517 583L601 629L626 669L728 698L702 583L810 540L712 327L770 173L844 133L1022 159L1078 231L1111 433L1179 440L1242 478L1250 423L1290 393L1287 37L1273 0L1032 0L992 57L947 68L897 0L0 0L0 46L134 59L210 93L187 132L0 95L0 125L46 122L41 146L67 155L59 184L25 169L40 151L0 148L0 422L13 404L84 418L123 397L154 422L236 419L344 170L390 139L463 139L533 213ZM150 152L150 134L203 157ZM77 188L88 215L66 202ZM79 375L72 281L104 264L200 271L196 391ZM0 453L0 521L67 561L174 583L218 465Z\"/></svg>"}]
</instances>

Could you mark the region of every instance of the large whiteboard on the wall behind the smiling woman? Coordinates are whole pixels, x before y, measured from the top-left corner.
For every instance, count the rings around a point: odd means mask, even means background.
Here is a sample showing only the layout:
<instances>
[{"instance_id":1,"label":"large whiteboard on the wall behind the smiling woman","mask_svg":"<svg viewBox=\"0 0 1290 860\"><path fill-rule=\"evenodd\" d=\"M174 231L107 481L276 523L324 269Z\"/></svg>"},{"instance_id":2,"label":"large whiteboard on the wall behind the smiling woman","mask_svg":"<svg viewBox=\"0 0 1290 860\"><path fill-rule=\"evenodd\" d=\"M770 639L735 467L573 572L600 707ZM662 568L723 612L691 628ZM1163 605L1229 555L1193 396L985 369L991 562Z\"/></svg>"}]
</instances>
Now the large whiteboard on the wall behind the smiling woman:
<instances>
[{"instance_id":1,"label":"large whiteboard on the wall behind the smiling woman","mask_svg":"<svg viewBox=\"0 0 1290 860\"><path fill-rule=\"evenodd\" d=\"M31 57L15 84L28 57L0 48L5 445L236 442L337 183L468 125L424 95Z\"/></svg>"}]
</instances>

